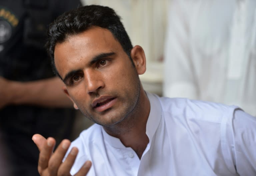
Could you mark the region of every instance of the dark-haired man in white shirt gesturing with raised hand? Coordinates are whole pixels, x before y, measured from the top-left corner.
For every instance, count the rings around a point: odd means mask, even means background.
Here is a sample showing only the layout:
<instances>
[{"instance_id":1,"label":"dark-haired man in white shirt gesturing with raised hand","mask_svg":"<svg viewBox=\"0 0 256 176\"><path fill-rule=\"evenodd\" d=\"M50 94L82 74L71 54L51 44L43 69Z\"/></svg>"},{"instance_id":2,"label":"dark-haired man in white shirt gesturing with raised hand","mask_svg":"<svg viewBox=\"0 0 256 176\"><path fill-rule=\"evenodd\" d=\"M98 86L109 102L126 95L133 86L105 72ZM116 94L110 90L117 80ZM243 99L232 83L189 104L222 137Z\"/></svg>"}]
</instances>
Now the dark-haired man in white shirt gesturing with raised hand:
<instances>
[{"instance_id":1,"label":"dark-haired man in white shirt gesturing with raised hand","mask_svg":"<svg viewBox=\"0 0 256 176\"><path fill-rule=\"evenodd\" d=\"M65 93L96 124L54 152L54 138L35 134L41 176L256 174L255 117L236 106L145 92L143 49L132 47L111 8L64 13L48 37Z\"/></svg>"}]
</instances>

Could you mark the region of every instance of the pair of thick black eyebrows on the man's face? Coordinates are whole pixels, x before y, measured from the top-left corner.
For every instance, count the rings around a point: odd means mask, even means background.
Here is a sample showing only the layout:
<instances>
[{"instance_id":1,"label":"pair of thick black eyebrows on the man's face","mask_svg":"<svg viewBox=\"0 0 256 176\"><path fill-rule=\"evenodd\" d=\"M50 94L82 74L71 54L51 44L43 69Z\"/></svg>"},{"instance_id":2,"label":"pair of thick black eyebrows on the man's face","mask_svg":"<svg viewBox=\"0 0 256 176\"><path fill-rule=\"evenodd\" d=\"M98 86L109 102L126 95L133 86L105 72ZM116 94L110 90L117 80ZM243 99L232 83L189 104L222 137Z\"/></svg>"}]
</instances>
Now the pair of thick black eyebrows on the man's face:
<instances>
[{"instance_id":1,"label":"pair of thick black eyebrows on the man's face","mask_svg":"<svg viewBox=\"0 0 256 176\"><path fill-rule=\"evenodd\" d=\"M104 59L106 57L109 57L109 56L112 56L112 55L115 55L116 53L114 52L110 52L110 53L101 53L95 57L92 58L91 62L89 63L89 66L93 65L94 63L100 61L101 59ZM69 72L67 75L65 75L64 79L63 79L63 82L66 84L66 82L68 81L69 78L71 78L73 75L76 75L78 73L82 72L81 69L79 70L73 70L71 72Z\"/></svg>"}]
</instances>

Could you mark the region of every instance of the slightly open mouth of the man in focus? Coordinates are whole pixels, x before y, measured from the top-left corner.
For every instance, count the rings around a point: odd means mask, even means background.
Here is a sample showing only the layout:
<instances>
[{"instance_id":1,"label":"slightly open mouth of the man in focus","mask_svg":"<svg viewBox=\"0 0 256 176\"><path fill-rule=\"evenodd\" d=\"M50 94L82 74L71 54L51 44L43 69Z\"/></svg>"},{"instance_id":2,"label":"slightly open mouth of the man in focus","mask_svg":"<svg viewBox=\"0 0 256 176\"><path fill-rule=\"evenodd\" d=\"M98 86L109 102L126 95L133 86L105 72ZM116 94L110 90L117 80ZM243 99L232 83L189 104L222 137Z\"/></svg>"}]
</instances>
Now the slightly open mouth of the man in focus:
<instances>
[{"instance_id":1,"label":"slightly open mouth of the man in focus","mask_svg":"<svg viewBox=\"0 0 256 176\"><path fill-rule=\"evenodd\" d=\"M116 97L101 97L93 102L93 108L102 112L111 108L116 102Z\"/></svg>"}]
</instances>

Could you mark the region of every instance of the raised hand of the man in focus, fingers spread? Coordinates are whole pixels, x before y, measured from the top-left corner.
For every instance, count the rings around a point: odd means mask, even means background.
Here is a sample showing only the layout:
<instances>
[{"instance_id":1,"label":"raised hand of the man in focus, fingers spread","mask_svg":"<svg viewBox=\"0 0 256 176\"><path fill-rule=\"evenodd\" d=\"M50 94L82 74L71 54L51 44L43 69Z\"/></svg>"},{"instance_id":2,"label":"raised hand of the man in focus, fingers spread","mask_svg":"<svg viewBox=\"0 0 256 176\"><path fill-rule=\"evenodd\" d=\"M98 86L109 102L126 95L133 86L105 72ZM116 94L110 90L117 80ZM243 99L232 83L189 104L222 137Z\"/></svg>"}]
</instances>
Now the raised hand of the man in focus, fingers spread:
<instances>
[{"instance_id":1,"label":"raised hand of the man in focus, fingers spread","mask_svg":"<svg viewBox=\"0 0 256 176\"><path fill-rule=\"evenodd\" d=\"M38 160L38 172L41 176L71 176L70 170L74 164L78 149L73 147L64 162L62 162L70 141L64 139L53 152L56 141L49 137L45 139L40 134L35 134L32 140L37 145L40 154ZM91 167L91 162L86 161L81 169L74 176L85 176Z\"/></svg>"}]
</instances>

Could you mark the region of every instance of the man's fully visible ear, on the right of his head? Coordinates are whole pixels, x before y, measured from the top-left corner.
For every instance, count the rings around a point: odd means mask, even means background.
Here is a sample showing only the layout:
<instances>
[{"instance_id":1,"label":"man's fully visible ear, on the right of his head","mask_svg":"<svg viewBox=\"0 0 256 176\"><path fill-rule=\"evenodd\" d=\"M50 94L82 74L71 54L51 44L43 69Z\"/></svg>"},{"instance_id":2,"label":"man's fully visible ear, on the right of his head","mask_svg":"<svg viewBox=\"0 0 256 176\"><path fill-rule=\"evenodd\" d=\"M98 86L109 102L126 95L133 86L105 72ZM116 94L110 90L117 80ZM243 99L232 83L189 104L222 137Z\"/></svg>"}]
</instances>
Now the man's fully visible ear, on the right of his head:
<instances>
[{"instance_id":1,"label":"man's fully visible ear, on the right of his head","mask_svg":"<svg viewBox=\"0 0 256 176\"><path fill-rule=\"evenodd\" d=\"M131 50L131 58L139 75L146 72L146 57L144 50L141 46L136 45Z\"/></svg>"}]
</instances>

